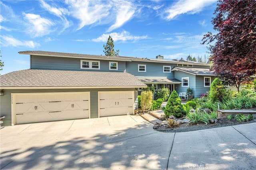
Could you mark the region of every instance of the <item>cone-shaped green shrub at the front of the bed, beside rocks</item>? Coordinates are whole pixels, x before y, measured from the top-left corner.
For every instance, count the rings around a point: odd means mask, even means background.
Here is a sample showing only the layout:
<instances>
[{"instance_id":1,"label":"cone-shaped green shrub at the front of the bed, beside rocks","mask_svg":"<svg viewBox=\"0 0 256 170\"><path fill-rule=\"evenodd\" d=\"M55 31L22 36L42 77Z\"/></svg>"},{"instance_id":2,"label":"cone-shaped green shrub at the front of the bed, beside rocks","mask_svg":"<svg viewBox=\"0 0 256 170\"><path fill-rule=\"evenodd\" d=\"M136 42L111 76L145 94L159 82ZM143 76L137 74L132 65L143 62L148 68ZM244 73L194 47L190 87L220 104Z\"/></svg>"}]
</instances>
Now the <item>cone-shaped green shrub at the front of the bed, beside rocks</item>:
<instances>
[{"instance_id":1,"label":"cone-shaped green shrub at the front of the bed, beside rocks","mask_svg":"<svg viewBox=\"0 0 256 170\"><path fill-rule=\"evenodd\" d=\"M172 94L167 101L164 114L166 117L169 117L170 115L174 115L175 117L182 117L182 115L186 114L181 105L181 100L178 96L178 93L175 90L172 91Z\"/></svg>"}]
</instances>

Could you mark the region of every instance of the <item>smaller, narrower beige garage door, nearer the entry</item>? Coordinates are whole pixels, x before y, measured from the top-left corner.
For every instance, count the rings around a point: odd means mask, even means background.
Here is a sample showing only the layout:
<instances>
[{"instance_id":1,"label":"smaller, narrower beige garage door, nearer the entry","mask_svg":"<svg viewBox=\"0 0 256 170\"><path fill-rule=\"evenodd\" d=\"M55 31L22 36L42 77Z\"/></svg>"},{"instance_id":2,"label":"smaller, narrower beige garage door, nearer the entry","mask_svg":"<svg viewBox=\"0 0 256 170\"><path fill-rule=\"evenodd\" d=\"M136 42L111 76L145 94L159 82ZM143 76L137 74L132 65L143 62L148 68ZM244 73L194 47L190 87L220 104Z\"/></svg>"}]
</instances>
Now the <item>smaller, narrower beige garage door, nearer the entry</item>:
<instances>
[{"instance_id":1,"label":"smaller, narrower beige garage door, nearer the entry","mask_svg":"<svg viewBox=\"0 0 256 170\"><path fill-rule=\"evenodd\" d=\"M98 92L99 116L127 115L134 111L134 91Z\"/></svg>"}]
</instances>

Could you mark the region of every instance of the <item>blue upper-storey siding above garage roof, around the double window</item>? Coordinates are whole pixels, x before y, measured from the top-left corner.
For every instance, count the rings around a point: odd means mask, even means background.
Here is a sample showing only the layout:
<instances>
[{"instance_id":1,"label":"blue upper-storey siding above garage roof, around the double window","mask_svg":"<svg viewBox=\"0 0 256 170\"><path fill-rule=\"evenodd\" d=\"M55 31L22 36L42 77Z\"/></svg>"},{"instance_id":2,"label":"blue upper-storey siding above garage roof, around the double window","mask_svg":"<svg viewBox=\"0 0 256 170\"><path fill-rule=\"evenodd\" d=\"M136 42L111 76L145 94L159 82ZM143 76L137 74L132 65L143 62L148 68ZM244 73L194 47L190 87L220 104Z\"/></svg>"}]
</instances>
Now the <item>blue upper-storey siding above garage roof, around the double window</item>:
<instances>
[{"instance_id":1,"label":"blue upper-storey siding above garage roof, around the double window","mask_svg":"<svg viewBox=\"0 0 256 170\"><path fill-rule=\"evenodd\" d=\"M84 60L88 60L88 59L84 59ZM31 69L124 72L126 67L125 61L114 61L114 62L118 62L118 70L109 70L109 61L92 59L91 61L100 61L100 70L81 69L80 61L81 59L74 59L74 58L32 56Z\"/></svg>"}]
</instances>

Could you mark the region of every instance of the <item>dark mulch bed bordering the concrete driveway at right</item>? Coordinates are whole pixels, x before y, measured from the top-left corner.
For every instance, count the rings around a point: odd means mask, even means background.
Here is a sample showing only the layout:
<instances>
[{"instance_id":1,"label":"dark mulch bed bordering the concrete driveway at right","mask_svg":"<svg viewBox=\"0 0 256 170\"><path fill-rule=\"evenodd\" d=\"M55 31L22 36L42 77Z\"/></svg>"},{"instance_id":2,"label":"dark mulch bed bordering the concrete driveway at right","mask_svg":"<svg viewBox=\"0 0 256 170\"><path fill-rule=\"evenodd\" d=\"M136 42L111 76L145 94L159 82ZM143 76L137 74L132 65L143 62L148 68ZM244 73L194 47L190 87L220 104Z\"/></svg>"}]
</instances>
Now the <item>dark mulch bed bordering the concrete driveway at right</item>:
<instances>
[{"instance_id":1,"label":"dark mulch bed bordering the concrete driveway at right","mask_svg":"<svg viewBox=\"0 0 256 170\"><path fill-rule=\"evenodd\" d=\"M176 128L170 128L168 125L154 125L153 129L156 131L160 132L166 132L166 133L176 133L176 132L188 132L188 131L198 131L198 130L204 130L204 129L212 129L216 127L225 127L225 126L233 126L233 125L241 125L241 124L246 124L246 123L254 123L256 122L256 114L252 114L253 119L250 121L243 121L243 122L238 122L234 119L228 120L227 118L222 118L218 119L217 123L210 124L207 123L198 123L198 124L192 124L192 123L183 123L180 124L179 127Z\"/></svg>"}]
</instances>

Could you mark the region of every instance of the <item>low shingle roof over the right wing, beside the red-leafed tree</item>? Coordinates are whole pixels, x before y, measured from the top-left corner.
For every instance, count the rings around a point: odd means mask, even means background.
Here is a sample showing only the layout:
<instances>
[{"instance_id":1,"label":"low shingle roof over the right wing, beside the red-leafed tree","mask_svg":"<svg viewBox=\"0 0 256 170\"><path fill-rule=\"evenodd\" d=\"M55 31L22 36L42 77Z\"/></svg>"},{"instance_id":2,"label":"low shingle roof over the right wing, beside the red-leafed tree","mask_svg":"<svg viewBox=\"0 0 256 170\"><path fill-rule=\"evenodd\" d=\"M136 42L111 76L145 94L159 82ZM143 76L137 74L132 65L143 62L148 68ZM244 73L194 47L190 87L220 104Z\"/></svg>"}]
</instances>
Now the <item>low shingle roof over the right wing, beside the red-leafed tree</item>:
<instances>
[{"instance_id":1,"label":"low shingle roof over the right wing, beside the red-leafed tree","mask_svg":"<svg viewBox=\"0 0 256 170\"><path fill-rule=\"evenodd\" d=\"M188 72L190 74L195 75L212 75L216 76L214 72L210 71L210 68L193 68L193 67L174 67L172 68L172 71L179 70L183 72Z\"/></svg>"}]
</instances>

